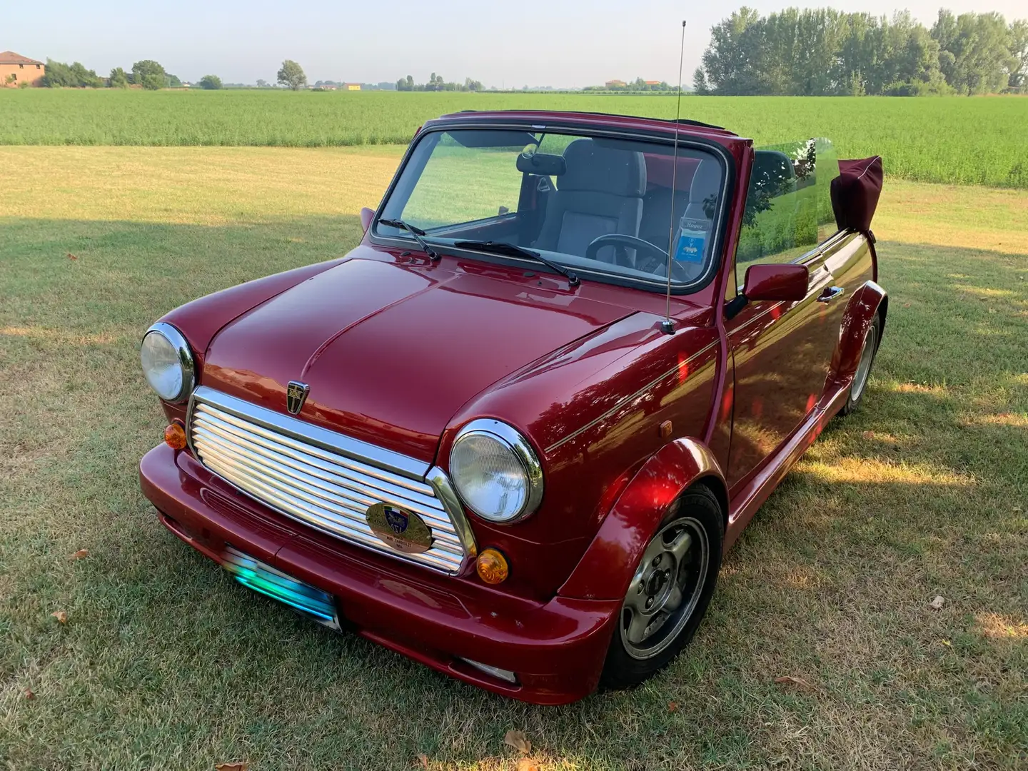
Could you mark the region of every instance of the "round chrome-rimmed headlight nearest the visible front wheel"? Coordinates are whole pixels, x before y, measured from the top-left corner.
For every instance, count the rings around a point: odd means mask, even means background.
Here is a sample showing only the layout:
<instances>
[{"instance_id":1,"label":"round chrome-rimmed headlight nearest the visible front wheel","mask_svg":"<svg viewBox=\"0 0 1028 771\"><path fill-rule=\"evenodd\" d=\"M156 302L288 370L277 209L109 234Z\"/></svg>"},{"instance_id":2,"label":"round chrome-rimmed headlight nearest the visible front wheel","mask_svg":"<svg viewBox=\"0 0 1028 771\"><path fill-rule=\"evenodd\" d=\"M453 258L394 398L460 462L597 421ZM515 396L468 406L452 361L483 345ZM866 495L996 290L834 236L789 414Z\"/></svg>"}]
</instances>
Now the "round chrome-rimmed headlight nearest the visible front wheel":
<instances>
[{"instance_id":1,"label":"round chrome-rimmed headlight nearest the visible front wheel","mask_svg":"<svg viewBox=\"0 0 1028 771\"><path fill-rule=\"evenodd\" d=\"M491 522L526 517L543 499L543 467L531 445L499 420L465 426L450 450L449 469L464 503Z\"/></svg>"}]
</instances>

